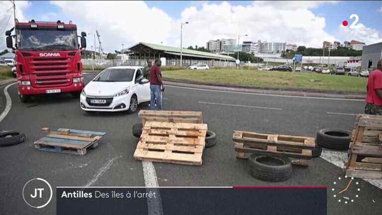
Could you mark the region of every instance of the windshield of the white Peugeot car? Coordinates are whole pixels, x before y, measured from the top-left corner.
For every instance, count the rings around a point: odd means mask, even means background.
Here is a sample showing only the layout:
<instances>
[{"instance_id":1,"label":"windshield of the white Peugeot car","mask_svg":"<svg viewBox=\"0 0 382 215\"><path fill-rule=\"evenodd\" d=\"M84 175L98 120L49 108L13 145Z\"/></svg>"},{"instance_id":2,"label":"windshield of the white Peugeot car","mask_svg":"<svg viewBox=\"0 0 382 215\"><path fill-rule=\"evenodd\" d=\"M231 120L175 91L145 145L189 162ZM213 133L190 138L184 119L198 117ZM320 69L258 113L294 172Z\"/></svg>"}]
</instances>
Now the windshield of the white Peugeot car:
<instances>
[{"instance_id":1,"label":"windshield of the white Peugeot car","mask_svg":"<svg viewBox=\"0 0 382 215\"><path fill-rule=\"evenodd\" d=\"M134 68L107 68L94 78L94 82L131 82Z\"/></svg>"}]
</instances>

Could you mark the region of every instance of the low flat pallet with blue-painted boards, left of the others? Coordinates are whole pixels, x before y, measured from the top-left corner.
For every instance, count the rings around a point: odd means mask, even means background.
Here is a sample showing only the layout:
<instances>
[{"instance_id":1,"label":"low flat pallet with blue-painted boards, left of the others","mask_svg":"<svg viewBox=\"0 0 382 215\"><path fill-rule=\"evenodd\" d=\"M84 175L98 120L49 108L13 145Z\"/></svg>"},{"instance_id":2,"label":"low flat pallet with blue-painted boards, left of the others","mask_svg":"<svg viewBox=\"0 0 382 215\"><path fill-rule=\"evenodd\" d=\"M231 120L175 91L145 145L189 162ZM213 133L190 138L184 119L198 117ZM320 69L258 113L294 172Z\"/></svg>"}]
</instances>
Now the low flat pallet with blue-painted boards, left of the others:
<instances>
[{"instance_id":1,"label":"low flat pallet with blue-painted boards, left of the others","mask_svg":"<svg viewBox=\"0 0 382 215\"><path fill-rule=\"evenodd\" d=\"M86 149L97 147L99 140L106 134L105 132L68 128L59 128L57 131L42 128L41 131L46 133L46 136L33 142L35 149L74 155L86 155Z\"/></svg>"}]
</instances>

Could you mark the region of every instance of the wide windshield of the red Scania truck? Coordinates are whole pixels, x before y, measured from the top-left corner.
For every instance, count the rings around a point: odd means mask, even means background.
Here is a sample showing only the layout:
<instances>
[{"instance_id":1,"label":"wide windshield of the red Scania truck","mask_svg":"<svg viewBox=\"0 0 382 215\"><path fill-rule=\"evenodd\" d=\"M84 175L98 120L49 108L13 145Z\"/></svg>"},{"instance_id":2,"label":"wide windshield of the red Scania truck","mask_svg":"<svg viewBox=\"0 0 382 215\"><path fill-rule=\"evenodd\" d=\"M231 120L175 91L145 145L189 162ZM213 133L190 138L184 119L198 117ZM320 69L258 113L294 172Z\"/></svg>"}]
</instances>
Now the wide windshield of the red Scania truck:
<instances>
[{"instance_id":1,"label":"wide windshield of the red Scania truck","mask_svg":"<svg viewBox=\"0 0 382 215\"><path fill-rule=\"evenodd\" d=\"M31 50L73 50L78 49L76 31L56 29L19 30L18 48Z\"/></svg>"}]
</instances>

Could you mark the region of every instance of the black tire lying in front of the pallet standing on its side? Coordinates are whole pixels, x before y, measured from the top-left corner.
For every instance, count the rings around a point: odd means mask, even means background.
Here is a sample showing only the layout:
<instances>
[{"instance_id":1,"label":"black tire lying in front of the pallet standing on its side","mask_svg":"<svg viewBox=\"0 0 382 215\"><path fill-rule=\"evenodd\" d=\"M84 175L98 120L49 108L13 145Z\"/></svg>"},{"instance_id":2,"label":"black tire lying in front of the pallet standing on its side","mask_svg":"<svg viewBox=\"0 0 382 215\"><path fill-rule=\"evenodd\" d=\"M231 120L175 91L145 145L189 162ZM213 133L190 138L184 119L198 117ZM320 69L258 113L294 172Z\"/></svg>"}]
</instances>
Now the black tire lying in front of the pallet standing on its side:
<instances>
[{"instance_id":1,"label":"black tire lying in front of the pallet standing on its side","mask_svg":"<svg viewBox=\"0 0 382 215\"><path fill-rule=\"evenodd\" d=\"M265 160L270 160L277 164L265 164ZM288 180L292 176L292 162L286 157L252 154L248 162L249 174L261 181L280 182Z\"/></svg>"}]
</instances>

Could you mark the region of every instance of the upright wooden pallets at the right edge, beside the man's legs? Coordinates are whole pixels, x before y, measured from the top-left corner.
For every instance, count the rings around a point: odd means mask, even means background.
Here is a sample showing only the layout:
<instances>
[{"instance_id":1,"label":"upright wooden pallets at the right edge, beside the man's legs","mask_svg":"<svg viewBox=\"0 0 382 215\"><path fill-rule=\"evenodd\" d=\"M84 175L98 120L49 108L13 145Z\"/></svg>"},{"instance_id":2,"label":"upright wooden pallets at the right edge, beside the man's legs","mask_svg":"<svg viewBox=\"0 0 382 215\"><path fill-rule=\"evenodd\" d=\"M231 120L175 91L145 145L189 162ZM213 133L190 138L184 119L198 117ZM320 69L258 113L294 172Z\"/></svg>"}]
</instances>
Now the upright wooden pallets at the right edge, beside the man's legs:
<instances>
[{"instance_id":1,"label":"upright wooden pallets at the right edge, beside the man's legs","mask_svg":"<svg viewBox=\"0 0 382 215\"><path fill-rule=\"evenodd\" d=\"M382 116L359 114L354 124L346 175L382 179Z\"/></svg>"}]
</instances>

